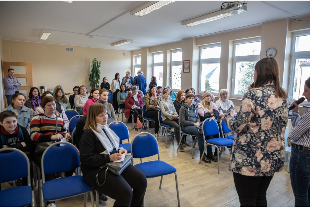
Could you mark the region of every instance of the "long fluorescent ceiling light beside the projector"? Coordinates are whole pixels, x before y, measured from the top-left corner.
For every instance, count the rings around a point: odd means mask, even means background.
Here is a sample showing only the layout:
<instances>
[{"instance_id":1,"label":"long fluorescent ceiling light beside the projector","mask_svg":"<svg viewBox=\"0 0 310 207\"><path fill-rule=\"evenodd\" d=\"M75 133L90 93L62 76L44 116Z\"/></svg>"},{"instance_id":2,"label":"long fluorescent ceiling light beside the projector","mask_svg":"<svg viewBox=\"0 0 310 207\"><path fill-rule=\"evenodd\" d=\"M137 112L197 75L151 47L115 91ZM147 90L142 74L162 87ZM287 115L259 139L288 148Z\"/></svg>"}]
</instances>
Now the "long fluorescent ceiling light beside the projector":
<instances>
[{"instance_id":1,"label":"long fluorescent ceiling light beside the projector","mask_svg":"<svg viewBox=\"0 0 310 207\"><path fill-rule=\"evenodd\" d=\"M215 11L213 13L203 15L194 19L189 19L187 21L182 22L183 26L191 27L197 24L202 24L206 22L210 22L216 19L222 19L224 17L232 16L233 14L225 13L224 11Z\"/></svg>"}]
</instances>

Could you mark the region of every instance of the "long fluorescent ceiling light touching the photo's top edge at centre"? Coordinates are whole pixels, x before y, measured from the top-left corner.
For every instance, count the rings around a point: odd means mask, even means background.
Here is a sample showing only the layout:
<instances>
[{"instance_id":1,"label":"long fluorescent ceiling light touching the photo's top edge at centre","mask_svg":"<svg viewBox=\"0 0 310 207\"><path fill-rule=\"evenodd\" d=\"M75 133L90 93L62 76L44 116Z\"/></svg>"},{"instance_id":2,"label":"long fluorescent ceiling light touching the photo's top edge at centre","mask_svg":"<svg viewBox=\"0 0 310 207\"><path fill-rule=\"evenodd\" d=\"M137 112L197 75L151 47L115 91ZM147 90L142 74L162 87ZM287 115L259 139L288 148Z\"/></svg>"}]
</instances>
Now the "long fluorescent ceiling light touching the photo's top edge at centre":
<instances>
[{"instance_id":1,"label":"long fluorescent ceiling light touching the photo's top edge at centre","mask_svg":"<svg viewBox=\"0 0 310 207\"><path fill-rule=\"evenodd\" d=\"M172 2L175 1L149 1L142 6L139 6L135 10L131 11L130 15L143 16Z\"/></svg>"}]
</instances>

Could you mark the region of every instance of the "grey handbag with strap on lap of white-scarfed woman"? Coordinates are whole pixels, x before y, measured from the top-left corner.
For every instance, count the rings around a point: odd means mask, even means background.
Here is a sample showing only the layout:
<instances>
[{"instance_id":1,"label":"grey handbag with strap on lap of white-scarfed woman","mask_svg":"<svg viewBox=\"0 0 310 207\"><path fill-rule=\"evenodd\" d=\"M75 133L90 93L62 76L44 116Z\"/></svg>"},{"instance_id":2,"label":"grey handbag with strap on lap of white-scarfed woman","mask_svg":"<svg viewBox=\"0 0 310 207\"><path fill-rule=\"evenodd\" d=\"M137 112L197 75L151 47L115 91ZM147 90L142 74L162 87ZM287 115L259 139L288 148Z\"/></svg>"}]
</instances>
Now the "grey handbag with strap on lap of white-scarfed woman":
<instances>
[{"instance_id":1,"label":"grey handbag with strap on lap of white-scarfed woman","mask_svg":"<svg viewBox=\"0 0 310 207\"><path fill-rule=\"evenodd\" d=\"M115 175L120 176L121 173L126 169L126 167L128 167L131 164L131 159L132 159L131 155L126 155L124 161L122 162L108 162L107 164L105 164L105 166L100 167L96 175L97 185L102 186L105 183L105 180L107 179L108 170L113 172ZM105 169L104 182L102 184L99 184L98 174L102 169Z\"/></svg>"}]
</instances>

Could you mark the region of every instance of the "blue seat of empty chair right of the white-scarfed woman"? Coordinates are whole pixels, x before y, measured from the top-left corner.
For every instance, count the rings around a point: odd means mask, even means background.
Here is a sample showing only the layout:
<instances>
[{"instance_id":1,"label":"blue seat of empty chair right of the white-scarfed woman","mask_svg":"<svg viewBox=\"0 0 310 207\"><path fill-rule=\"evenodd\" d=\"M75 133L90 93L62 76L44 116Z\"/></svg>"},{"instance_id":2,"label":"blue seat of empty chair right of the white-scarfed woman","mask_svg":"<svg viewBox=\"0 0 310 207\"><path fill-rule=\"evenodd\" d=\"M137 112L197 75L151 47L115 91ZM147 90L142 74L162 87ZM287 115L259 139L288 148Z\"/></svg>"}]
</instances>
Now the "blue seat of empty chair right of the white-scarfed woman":
<instances>
[{"instance_id":1,"label":"blue seat of empty chair right of the white-scarfed woman","mask_svg":"<svg viewBox=\"0 0 310 207\"><path fill-rule=\"evenodd\" d=\"M135 167L141 170L147 178L169 175L176 172L176 169L173 166L161 160L142 162L136 164Z\"/></svg>"}]
</instances>

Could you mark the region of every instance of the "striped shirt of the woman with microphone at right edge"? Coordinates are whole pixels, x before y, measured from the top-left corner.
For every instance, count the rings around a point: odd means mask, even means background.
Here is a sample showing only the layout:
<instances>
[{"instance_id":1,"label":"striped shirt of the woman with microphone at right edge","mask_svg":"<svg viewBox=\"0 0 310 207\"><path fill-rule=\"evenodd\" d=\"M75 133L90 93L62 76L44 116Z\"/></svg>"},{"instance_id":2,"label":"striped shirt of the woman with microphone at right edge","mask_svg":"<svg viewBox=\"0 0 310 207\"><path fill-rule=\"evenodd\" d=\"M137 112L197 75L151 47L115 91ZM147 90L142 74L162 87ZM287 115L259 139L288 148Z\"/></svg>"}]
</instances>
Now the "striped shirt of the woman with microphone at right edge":
<instances>
[{"instance_id":1,"label":"striped shirt of the woman with microphone at right edge","mask_svg":"<svg viewBox=\"0 0 310 207\"><path fill-rule=\"evenodd\" d=\"M292 143L310 147L310 109L301 117L299 117L299 111L293 112L291 121L293 129L290 131L290 139Z\"/></svg>"}]
</instances>

